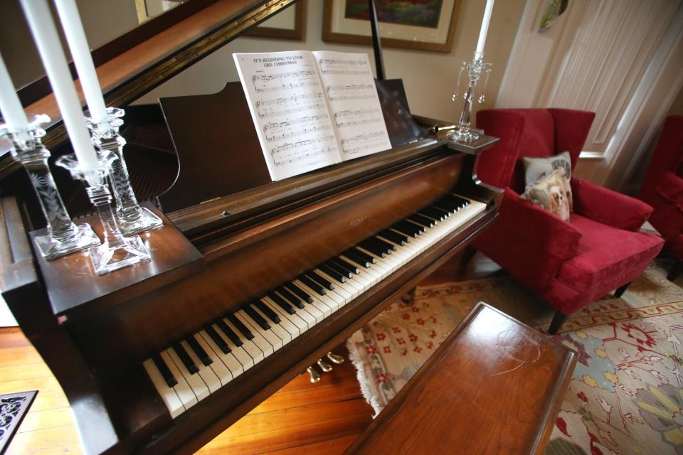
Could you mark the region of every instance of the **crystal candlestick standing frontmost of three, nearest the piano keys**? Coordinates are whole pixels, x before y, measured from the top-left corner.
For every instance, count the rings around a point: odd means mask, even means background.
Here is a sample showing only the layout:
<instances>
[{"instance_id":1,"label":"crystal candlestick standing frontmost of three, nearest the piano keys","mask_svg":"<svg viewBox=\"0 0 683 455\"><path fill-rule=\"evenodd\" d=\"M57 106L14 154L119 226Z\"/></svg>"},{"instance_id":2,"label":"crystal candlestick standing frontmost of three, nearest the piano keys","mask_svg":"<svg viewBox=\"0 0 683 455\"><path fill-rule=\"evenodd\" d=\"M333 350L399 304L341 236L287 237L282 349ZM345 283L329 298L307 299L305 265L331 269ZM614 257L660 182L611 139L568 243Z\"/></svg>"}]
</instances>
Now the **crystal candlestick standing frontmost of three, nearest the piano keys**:
<instances>
[{"instance_id":1,"label":"crystal candlestick standing frontmost of three, nearest the piano keys","mask_svg":"<svg viewBox=\"0 0 683 455\"><path fill-rule=\"evenodd\" d=\"M140 236L124 237L116 223L111 205L112 195L107 187L107 176L111 171L112 163L116 160L115 153L100 151L97 154L99 166L94 169L81 166L73 154L60 156L56 161L57 166L68 169L73 178L85 183L90 202L95 205L97 215L100 216L104 241L102 245L90 247L88 250L95 273L98 275L150 259L149 251Z\"/></svg>"}]
</instances>

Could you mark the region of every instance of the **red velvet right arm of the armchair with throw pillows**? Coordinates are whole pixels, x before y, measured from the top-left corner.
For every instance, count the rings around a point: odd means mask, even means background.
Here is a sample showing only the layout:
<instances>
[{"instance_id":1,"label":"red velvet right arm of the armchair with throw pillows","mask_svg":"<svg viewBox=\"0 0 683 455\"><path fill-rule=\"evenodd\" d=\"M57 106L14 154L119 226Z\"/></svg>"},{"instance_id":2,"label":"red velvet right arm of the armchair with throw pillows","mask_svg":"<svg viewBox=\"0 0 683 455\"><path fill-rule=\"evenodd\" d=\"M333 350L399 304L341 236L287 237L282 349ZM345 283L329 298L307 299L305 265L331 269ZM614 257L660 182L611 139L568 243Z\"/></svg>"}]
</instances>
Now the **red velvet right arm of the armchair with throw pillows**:
<instances>
[{"instance_id":1,"label":"red velvet right arm of the armchair with throw pillows","mask_svg":"<svg viewBox=\"0 0 683 455\"><path fill-rule=\"evenodd\" d=\"M613 228L636 231L652 214L652 207L622 193L582 178L571 179L574 211Z\"/></svg>"}]
</instances>

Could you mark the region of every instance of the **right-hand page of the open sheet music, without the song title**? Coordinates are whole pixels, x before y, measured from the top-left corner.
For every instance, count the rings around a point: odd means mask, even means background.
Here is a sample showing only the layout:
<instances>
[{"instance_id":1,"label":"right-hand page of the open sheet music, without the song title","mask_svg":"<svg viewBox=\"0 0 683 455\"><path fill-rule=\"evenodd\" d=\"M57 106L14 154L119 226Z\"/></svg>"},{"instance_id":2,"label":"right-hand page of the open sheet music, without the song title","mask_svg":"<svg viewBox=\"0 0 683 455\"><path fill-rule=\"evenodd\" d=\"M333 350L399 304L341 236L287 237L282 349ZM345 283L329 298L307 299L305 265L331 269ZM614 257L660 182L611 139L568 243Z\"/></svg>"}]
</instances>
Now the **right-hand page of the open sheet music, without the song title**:
<instances>
[{"instance_id":1,"label":"right-hand page of the open sheet music, without the song title","mask_svg":"<svg viewBox=\"0 0 683 455\"><path fill-rule=\"evenodd\" d=\"M342 160L391 149L367 54L313 53L337 129Z\"/></svg>"}]
</instances>

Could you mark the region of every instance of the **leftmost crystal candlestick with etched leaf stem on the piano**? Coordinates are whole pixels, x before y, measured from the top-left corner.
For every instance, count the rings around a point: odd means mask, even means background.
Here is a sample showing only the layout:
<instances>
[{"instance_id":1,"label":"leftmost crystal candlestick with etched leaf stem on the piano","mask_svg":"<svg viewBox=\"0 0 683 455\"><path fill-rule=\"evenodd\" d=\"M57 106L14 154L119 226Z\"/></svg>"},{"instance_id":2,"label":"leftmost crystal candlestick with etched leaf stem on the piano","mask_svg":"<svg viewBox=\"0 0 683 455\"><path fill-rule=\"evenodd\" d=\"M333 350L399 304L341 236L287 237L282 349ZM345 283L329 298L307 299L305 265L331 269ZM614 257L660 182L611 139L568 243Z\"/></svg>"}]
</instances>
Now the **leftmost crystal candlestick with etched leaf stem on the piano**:
<instances>
[{"instance_id":1,"label":"leftmost crystal candlestick with etched leaf stem on the piano","mask_svg":"<svg viewBox=\"0 0 683 455\"><path fill-rule=\"evenodd\" d=\"M9 139L14 145L11 154L19 161L31 179L38 202L43 209L47 221L46 235L36 237L36 245L41 255L48 260L56 259L69 253L93 245L100 245L100 238L95 235L88 223L76 225L71 220L48 166L50 152L43 146L41 138L45 136L42 124L50 122L47 115L38 115L28 124L26 131L19 131L0 125L0 137Z\"/></svg>"}]
</instances>

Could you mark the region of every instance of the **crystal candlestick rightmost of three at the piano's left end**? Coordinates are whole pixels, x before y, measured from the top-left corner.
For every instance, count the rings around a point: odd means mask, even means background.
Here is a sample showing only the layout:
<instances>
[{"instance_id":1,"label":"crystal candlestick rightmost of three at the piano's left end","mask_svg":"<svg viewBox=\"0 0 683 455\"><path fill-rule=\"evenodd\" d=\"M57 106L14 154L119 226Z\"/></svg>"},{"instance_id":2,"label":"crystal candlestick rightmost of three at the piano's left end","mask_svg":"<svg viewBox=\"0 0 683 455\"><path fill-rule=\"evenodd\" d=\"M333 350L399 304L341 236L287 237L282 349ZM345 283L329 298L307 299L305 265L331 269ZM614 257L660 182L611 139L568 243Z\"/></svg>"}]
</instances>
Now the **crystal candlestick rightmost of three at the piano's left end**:
<instances>
[{"instance_id":1,"label":"crystal candlestick rightmost of three at the piano's left end","mask_svg":"<svg viewBox=\"0 0 683 455\"><path fill-rule=\"evenodd\" d=\"M110 178L114 196L116 198L116 215L119 228L123 235L134 235L146 230L161 228L164 224L157 215L146 208L140 207L130 186L128 168L123 158L123 146L126 140L119 134L123 124L123 109L107 108L109 117L106 122L95 123L88 119L88 127L92 132L92 142L101 151L111 151L115 154L112 162Z\"/></svg>"}]
</instances>

